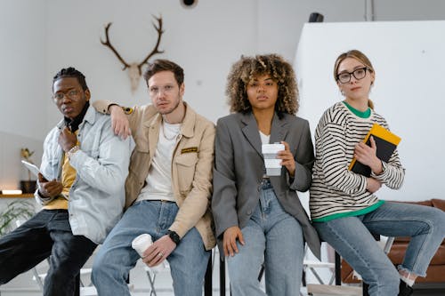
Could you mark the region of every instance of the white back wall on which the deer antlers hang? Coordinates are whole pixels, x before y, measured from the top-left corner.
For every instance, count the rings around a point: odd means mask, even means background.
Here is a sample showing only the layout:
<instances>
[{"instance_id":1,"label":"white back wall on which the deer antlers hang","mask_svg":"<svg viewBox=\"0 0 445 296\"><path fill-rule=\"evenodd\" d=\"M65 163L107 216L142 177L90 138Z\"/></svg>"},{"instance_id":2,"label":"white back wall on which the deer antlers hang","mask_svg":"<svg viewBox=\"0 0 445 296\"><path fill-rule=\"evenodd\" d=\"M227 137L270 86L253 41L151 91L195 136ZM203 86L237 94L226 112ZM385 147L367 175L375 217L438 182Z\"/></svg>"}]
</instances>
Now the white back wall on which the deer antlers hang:
<instances>
[{"instance_id":1,"label":"white back wall on which the deer antlers hang","mask_svg":"<svg viewBox=\"0 0 445 296\"><path fill-rule=\"evenodd\" d=\"M139 61L156 41L151 15L162 15L166 32L160 49L165 53L154 58L183 66L185 100L215 122L228 113L225 78L241 54L278 52L294 60L301 29L311 12L323 13L327 22L365 18L364 1L357 0L208 0L189 10L178 2L48 0L48 78L72 64L87 75L93 100L107 98L127 105L149 102L143 81L138 92L131 94L126 72L99 39L104 37L104 24L113 21L112 44L125 60ZM405 0L376 1L376 20L380 15L389 20L445 19L441 0L430 0L429 5L409 0L409 4L416 9L398 9L407 5ZM51 102L48 113L50 128L59 118Z\"/></svg>"}]
</instances>

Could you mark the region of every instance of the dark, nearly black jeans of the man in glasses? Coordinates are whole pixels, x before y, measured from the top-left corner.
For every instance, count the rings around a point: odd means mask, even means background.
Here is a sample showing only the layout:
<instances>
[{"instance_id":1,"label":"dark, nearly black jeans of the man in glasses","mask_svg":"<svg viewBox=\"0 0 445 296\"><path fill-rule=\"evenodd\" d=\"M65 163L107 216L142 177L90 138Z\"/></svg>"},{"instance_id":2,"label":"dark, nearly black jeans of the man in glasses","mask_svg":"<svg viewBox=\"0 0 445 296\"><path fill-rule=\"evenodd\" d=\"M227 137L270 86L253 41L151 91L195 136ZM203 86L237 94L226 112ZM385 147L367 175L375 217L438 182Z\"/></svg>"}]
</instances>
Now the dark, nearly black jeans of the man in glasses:
<instances>
[{"instance_id":1,"label":"dark, nearly black jeans of the man in glasses","mask_svg":"<svg viewBox=\"0 0 445 296\"><path fill-rule=\"evenodd\" d=\"M50 257L44 296L78 294L76 276L96 246L85 236L73 236L68 211L42 210L0 238L0 284Z\"/></svg>"}]
</instances>

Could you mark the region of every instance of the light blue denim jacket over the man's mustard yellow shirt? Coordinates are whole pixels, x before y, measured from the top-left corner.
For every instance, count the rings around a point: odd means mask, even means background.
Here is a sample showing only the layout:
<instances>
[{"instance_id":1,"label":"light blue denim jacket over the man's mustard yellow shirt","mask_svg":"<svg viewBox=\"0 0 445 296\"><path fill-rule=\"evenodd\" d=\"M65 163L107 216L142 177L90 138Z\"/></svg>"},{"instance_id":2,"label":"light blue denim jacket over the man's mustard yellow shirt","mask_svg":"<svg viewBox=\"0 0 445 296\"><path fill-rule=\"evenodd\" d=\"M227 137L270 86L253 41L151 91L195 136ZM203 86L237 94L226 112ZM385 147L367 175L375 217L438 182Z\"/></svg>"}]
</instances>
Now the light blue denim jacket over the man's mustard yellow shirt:
<instances>
[{"instance_id":1,"label":"light blue denim jacket over the man's mustard yellow shirt","mask_svg":"<svg viewBox=\"0 0 445 296\"><path fill-rule=\"evenodd\" d=\"M61 180L63 151L58 139L63 127L62 120L44 140L40 171L48 180ZM69 190L69 224L73 235L86 236L101 244L124 209L130 140L114 135L109 116L94 108L86 111L77 140L80 150L69 160L77 171ZM42 198L38 190L35 196L39 204L48 204L53 199Z\"/></svg>"}]
</instances>

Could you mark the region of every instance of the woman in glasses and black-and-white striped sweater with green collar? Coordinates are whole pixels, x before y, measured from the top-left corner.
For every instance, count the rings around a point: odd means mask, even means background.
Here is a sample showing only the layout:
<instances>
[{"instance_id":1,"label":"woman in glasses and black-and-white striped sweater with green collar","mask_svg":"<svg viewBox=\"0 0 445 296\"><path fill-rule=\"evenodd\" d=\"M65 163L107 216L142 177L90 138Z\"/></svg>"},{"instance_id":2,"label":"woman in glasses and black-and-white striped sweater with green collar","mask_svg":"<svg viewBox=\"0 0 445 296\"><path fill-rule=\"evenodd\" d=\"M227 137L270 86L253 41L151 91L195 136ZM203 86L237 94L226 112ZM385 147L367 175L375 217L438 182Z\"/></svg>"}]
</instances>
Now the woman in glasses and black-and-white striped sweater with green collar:
<instances>
[{"instance_id":1,"label":"woman in glasses and black-and-white striped sweater with green collar","mask_svg":"<svg viewBox=\"0 0 445 296\"><path fill-rule=\"evenodd\" d=\"M370 147L362 142L372 124L388 129L368 99L376 78L374 68L362 52L352 50L337 58L334 77L345 100L325 111L315 132L313 225L369 285L369 295L410 295L416 277L425 276L445 236L445 213L377 198L382 185L401 188L405 172L397 149L385 163L376 157L374 139ZM348 170L353 157L371 168L369 178ZM371 233L411 236L398 270Z\"/></svg>"}]
</instances>

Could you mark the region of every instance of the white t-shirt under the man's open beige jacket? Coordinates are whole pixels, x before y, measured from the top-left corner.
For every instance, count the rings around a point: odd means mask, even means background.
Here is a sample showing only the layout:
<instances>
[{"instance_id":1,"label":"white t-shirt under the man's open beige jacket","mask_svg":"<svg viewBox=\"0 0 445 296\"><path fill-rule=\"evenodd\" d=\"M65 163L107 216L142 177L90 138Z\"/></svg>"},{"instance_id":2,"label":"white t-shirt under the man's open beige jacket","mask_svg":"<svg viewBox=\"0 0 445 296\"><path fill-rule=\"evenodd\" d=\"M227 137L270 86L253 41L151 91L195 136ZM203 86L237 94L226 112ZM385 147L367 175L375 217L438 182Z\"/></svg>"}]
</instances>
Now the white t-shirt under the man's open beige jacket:
<instances>
[{"instance_id":1,"label":"white t-shirt under the man's open beige jacket","mask_svg":"<svg viewBox=\"0 0 445 296\"><path fill-rule=\"evenodd\" d=\"M161 124L158 147L151 161L147 184L142 188L136 201L147 199L175 201L172 189L172 157L180 129L181 124L168 124L165 121Z\"/></svg>"}]
</instances>

